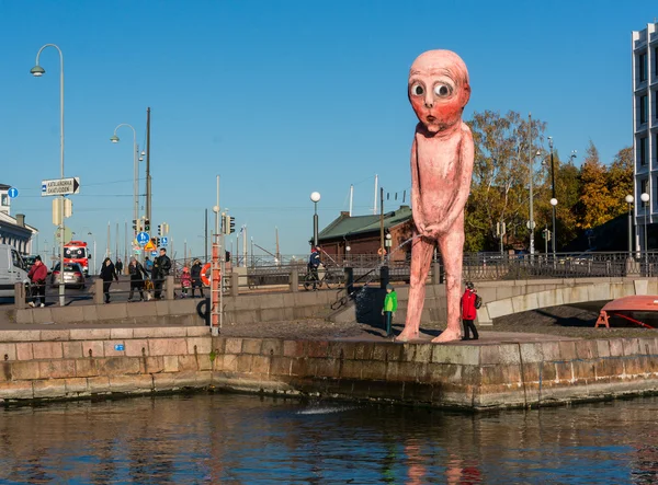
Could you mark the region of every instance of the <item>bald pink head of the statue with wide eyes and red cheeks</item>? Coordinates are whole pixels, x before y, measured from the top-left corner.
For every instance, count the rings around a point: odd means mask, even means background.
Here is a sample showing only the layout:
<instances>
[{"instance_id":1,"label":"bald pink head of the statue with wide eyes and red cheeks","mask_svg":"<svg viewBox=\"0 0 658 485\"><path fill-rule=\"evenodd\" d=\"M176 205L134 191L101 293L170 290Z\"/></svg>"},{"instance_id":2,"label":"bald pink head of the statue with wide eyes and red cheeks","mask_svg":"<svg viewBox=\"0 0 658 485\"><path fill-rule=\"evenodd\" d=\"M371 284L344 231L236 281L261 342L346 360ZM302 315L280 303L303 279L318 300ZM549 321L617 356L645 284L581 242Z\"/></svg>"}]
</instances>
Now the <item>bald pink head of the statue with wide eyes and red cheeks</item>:
<instances>
[{"instance_id":1,"label":"bald pink head of the statue with wide eyes and red cheeks","mask_svg":"<svg viewBox=\"0 0 658 485\"><path fill-rule=\"evenodd\" d=\"M470 99L468 70L451 50L428 50L409 70L409 101L428 131L439 132L462 120Z\"/></svg>"}]
</instances>

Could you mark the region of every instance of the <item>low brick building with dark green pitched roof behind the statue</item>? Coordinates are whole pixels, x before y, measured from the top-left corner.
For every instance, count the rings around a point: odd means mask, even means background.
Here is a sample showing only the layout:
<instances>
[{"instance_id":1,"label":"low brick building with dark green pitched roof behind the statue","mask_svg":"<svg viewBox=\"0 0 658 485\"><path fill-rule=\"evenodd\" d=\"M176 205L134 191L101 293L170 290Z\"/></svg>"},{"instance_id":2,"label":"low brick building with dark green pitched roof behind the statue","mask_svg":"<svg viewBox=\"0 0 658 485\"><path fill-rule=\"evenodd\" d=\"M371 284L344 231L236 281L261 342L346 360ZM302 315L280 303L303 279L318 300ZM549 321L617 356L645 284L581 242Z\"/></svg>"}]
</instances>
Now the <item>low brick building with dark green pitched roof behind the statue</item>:
<instances>
[{"instance_id":1,"label":"low brick building with dark green pitched roof behind the statue","mask_svg":"<svg viewBox=\"0 0 658 485\"><path fill-rule=\"evenodd\" d=\"M390 234L392 261L406 261L411 253L411 244L400 247L412 235L413 221L411 208L400 206L399 209L382 216L350 216L350 212L340 212L340 216L329 223L318 234L318 244L322 251L338 264L352 257L381 257L382 223L384 233Z\"/></svg>"}]
</instances>

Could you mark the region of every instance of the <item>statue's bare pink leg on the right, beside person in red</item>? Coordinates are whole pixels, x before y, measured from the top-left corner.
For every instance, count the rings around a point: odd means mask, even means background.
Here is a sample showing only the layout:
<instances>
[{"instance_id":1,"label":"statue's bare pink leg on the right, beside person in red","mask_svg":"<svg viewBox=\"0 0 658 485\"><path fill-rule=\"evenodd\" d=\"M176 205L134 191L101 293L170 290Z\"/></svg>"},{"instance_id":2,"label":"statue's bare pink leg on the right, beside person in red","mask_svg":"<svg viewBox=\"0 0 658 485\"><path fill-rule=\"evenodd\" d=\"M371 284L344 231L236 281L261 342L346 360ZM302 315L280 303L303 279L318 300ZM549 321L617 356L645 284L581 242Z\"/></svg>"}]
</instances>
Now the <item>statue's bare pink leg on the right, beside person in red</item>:
<instances>
[{"instance_id":1,"label":"statue's bare pink leg on the right, beside person in red","mask_svg":"<svg viewBox=\"0 0 658 485\"><path fill-rule=\"evenodd\" d=\"M462 265L464 257L464 215L453 230L439 236L439 249L445 266L447 326L432 343L458 340L462 337Z\"/></svg>"}]
</instances>

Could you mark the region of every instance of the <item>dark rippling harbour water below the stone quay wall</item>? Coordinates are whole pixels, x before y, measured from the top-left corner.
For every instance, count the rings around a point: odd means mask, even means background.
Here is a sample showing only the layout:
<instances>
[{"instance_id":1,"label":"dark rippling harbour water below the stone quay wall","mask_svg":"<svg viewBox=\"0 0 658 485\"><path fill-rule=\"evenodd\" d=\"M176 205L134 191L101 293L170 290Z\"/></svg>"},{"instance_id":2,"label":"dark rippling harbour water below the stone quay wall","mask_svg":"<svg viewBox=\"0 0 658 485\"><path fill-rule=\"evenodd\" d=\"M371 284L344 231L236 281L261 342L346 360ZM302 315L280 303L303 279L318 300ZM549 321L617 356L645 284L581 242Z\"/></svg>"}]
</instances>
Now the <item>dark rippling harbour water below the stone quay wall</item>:
<instances>
[{"instance_id":1,"label":"dark rippling harbour water below the stone quay wall","mask_svg":"<svg viewBox=\"0 0 658 485\"><path fill-rule=\"evenodd\" d=\"M458 414L232 394L0 409L1 484L651 484L658 399Z\"/></svg>"}]
</instances>

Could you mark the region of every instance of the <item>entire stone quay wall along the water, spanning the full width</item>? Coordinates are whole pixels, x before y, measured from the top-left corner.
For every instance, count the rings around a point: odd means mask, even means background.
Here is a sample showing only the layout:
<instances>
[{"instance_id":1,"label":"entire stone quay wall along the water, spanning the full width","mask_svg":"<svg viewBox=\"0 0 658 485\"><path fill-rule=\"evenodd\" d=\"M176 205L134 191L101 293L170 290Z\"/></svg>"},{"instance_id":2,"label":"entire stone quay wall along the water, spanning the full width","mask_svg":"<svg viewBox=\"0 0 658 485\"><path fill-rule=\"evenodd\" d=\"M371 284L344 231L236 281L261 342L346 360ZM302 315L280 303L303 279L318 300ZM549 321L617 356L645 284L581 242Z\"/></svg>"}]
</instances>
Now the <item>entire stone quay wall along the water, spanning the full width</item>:
<instances>
[{"instance_id":1,"label":"entire stone quay wall along the water, spanning the full width","mask_svg":"<svg viewBox=\"0 0 658 485\"><path fill-rule=\"evenodd\" d=\"M211 337L208 328L0 332L0 400L184 389L487 409L658 391L658 338L525 344Z\"/></svg>"}]
</instances>

